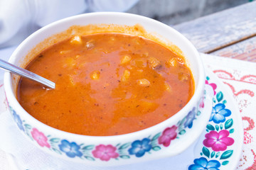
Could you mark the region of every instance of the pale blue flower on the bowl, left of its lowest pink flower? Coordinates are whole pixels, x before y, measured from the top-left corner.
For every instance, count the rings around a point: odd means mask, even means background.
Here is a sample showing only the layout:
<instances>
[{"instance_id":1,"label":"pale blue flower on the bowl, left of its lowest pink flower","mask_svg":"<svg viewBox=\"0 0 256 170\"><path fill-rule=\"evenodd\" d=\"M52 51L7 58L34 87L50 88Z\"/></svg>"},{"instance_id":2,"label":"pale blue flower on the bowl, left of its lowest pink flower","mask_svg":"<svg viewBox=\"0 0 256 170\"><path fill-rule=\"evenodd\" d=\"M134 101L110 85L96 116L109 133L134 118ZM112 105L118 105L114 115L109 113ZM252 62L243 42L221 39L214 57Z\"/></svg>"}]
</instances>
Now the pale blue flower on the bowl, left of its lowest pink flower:
<instances>
[{"instance_id":1,"label":"pale blue flower on the bowl, left of its lowest pink flower","mask_svg":"<svg viewBox=\"0 0 256 170\"><path fill-rule=\"evenodd\" d=\"M65 152L68 157L82 157L82 152L79 151L80 146L75 142L70 143L68 140L61 140L61 144L58 145L58 147L62 152Z\"/></svg>"}]
</instances>

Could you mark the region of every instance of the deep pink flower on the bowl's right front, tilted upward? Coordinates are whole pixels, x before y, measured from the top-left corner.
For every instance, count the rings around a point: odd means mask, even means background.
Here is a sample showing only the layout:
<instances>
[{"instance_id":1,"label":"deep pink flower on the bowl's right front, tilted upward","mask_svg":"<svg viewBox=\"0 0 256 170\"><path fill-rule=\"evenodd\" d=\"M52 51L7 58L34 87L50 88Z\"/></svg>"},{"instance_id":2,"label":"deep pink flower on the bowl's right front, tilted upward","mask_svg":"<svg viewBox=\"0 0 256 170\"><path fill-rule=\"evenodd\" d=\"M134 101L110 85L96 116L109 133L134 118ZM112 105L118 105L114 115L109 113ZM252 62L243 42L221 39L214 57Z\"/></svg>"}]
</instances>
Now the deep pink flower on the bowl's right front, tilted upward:
<instances>
[{"instance_id":1,"label":"deep pink flower on the bowl's right front, tilted upward","mask_svg":"<svg viewBox=\"0 0 256 170\"><path fill-rule=\"evenodd\" d=\"M164 147L168 147L171 144L171 140L174 140L177 137L177 127L173 125L171 128L166 128L159 137L159 144L163 144Z\"/></svg>"}]
</instances>

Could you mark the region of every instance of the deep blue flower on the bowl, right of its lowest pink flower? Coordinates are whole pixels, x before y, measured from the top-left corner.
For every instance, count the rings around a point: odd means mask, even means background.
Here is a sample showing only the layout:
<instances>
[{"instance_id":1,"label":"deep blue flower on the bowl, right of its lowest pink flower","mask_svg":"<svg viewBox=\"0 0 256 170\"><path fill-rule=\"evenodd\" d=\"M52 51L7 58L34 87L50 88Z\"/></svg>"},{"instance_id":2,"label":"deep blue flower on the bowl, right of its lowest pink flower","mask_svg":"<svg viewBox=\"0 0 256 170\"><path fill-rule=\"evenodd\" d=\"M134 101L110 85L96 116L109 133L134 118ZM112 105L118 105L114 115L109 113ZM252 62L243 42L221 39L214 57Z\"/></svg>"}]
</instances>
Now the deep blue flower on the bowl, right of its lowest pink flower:
<instances>
[{"instance_id":1,"label":"deep blue flower on the bowl, right of its lowest pink flower","mask_svg":"<svg viewBox=\"0 0 256 170\"><path fill-rule=\"evenodd\" d=\"M150 140L144 138L141 140L135 140L132 142L132 147L128 150L129 154L135 154L136 157L142 157L145 152L149 152L151 145L149 144Z\"/></svg>"}]
</instances>

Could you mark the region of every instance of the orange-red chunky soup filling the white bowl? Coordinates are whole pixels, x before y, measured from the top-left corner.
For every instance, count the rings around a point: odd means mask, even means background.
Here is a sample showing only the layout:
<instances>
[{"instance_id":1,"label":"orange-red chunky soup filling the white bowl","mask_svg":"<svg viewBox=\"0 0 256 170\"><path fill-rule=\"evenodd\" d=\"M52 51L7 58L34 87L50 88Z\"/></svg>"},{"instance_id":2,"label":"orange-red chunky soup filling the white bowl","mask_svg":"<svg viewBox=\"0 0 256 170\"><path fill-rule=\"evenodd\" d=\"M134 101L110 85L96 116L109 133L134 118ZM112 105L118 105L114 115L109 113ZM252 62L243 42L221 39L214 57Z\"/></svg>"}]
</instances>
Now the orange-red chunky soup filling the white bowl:
<instances>
[{"instance_id":1,"label":"orange-red chunky soup filling the white bowl","mask_svg":"<svg viewBox=\"0 0 256 170\"><path fill-rule=\"evenodd\" d=\"M76 35L41 52L26 69L56 87L21 78L21 106L42 123L81 135L149 128L181 110L195 88L182 57L121 33Z\"/></svg>"}]
</instances>

